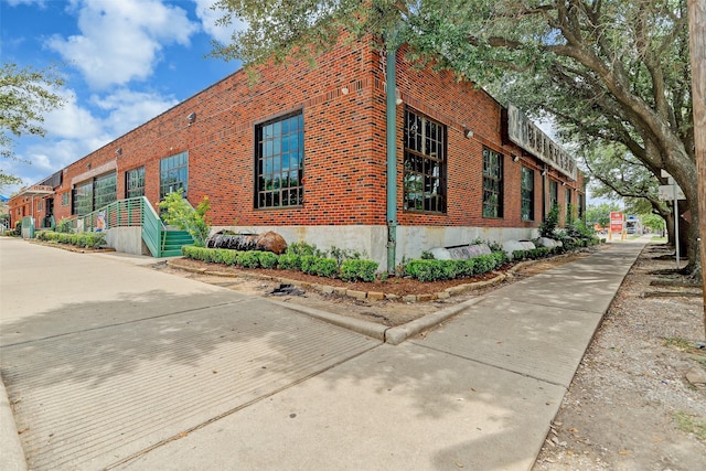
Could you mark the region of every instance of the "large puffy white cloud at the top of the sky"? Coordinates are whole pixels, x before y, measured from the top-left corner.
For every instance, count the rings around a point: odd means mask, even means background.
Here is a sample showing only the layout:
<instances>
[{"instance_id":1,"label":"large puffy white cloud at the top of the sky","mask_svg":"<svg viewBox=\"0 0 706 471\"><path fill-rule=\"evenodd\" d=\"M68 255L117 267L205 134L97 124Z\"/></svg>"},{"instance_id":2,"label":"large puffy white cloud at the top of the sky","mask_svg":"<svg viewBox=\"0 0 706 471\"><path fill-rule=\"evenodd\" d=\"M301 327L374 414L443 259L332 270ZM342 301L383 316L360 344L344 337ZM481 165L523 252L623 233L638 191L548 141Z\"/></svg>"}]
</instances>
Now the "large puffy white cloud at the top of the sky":
<instances>
[{"instance_id":1,"label":"large puffy white cloud at the top of the sky","mask_svg":"<svg viewBox=\"0 0 706 471\"><path fill-rule=\"evenodd\" d=\"M81 34L47 45L72 62L94 88L149 77L167 44L189 45L199 26L179 7L158 0L75 0Z\"/></svg>"}]
</instances>

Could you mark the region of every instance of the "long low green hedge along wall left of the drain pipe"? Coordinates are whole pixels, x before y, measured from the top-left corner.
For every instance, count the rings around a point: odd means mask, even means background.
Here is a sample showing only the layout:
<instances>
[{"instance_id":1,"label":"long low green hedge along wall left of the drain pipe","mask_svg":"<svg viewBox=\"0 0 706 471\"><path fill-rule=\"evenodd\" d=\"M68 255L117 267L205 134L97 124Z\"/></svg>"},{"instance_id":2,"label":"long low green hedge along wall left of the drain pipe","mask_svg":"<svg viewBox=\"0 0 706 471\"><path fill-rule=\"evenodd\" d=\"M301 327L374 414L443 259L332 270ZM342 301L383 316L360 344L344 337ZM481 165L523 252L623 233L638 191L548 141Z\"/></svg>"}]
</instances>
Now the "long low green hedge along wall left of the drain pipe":
<instances>
[{"instance_id":1,"label":"long low green hedge along wall left of the drain pipe","mask_svg":"<svg viewBox=\"0 0 706 471\"><path fill-rule=\"evenodd\" d=\"M325 278L341 278L344 281L374 281L378 264L371 260L349 259L339 263L334 258L315 255L300 255L288 251L275 255L271 251L231 250L227 248L206 248L186 245L182 247L185 258L212 264L238 266L243 268L279 268L298 270Z\"/></svg>"}]
</instances>

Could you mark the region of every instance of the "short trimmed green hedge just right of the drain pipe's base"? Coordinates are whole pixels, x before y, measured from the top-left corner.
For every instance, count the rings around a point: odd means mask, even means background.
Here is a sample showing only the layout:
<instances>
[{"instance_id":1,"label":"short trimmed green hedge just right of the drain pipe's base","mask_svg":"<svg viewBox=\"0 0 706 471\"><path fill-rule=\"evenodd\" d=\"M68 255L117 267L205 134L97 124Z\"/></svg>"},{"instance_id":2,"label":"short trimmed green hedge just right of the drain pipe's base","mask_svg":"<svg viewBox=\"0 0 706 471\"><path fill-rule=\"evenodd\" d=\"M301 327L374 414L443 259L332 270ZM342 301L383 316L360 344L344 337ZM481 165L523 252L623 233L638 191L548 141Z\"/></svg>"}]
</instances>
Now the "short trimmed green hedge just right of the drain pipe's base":
<instances>
[{"instance_id":1,"label":"short trimmed green hedge just right of the drain pipe's base","mask_svg":"<svg viewBox=\"0 0 706 471\"><path fill-rule=\"evenodd\" d=\"M406 275L419 281L438 281L486 274L506 261L504 251L493 251L468 260L410 260L404 269Z\"/></svg>"}]
</instances>

